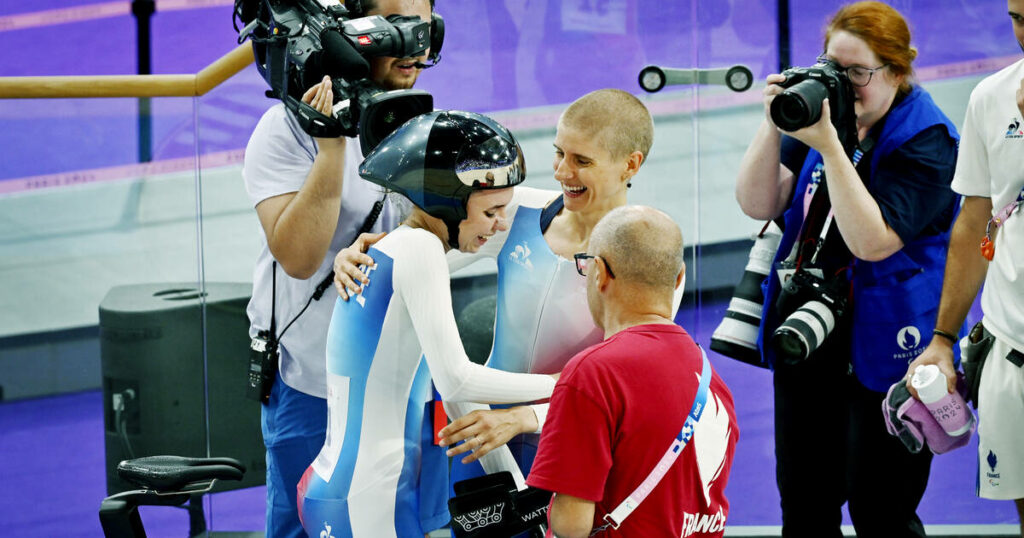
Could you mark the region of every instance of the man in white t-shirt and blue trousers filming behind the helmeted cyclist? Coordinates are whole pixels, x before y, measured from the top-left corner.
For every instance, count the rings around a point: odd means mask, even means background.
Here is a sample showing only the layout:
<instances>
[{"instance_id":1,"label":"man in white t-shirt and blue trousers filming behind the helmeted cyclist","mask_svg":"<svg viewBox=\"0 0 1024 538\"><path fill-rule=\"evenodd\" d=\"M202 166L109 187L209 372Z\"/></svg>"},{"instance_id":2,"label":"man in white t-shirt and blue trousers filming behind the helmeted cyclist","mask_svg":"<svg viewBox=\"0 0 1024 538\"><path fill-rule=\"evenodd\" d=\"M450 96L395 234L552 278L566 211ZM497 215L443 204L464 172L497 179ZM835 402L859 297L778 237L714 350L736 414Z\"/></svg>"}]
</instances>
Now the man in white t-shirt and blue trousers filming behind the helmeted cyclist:
<instances>
[{"instance_id":1,"label":"man in white t-shirt and blue trousers filming behind the helmeted cyclist","mask_svg":"<svg viewBox=\"0 0 1024 538\"><path fill-rule=\"evenodd\" d=\"M364 0L361 7L360 16L418 15L429 22L433 2ZM370 78L386 90L410 88L426 56L368 58ZM330 79L309 88L302 100L331 114ZM330 273L335 254L372 220L368 215L381 201L379 188L358 175L361 160L354 138L313 138L281 104L263 115L246 148L243 177L264 234L248 307L250 332L269 330L272 317L281 336L280 374L262 408L267 536L304 536L296 486L324 445L326 342L334 306L330 295L327 300L311 297ZM372 231L397 224L392 207L384 204L378 210ZM438 506L443 508L442 502ZM446 510L425 514L424 527L437 528L446 520Z\"/></svg>"}]
</instances>

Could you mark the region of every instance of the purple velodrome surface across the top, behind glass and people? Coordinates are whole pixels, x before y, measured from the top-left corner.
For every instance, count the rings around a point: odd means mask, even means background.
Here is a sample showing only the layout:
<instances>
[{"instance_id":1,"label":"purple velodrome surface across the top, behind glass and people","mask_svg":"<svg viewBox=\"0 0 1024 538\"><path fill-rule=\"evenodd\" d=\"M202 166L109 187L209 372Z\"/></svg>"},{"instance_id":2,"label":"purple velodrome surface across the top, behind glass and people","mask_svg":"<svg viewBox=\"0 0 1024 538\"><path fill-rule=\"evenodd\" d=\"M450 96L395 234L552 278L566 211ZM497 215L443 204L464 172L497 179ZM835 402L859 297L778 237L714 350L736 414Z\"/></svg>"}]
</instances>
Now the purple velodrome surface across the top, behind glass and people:
<instances>
[{"instance_id":1,"label":"purple velodrome surface across the top, behind glass and people","mask_svg":"<svg viewBox=\"0 0 1024 538\"><path fill-rule=\"evenodd\" d=\"M792 0L793 61L813 63L836 1ZM0 4L0 76L135 72L128 0ZM912 24L918 67L1016 54L1001 0L894 2ZM775 2L769 0L439 0L443 61L421 79L438 108L509 111L568 102L601 87L640 91L646 64L777 69ZM228 0L163 0L153 17L153 71L195 73L236 46ZM244 148L269 106L254 70L229 94L200 100L201 153ZM185 99L187 100L187 99ZM0 180L131 164L137 159L132 99L0 101ZM182 99L154 104L155 160L188 158L193 112ZM210 130L230 118L230 127ZM248 119L248 122L246 121ZM204 136L204 127L208 131ZM117 133L111 139L110 133ZM184 141L181 141L184 140Z\"/></svg>"}]
</instances>

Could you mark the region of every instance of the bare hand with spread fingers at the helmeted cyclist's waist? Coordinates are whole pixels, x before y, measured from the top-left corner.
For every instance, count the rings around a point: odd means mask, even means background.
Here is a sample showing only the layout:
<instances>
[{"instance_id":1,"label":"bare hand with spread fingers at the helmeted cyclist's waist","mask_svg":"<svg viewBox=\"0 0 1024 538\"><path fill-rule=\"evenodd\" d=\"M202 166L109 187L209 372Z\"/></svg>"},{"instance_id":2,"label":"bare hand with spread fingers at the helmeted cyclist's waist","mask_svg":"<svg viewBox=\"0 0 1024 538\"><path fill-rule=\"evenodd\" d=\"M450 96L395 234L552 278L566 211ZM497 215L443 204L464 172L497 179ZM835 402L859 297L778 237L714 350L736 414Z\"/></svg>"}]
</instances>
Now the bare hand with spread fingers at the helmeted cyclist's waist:
<instances>
[{"instance_id":1,"label":"bare hand with spread fingers at the helmeted cyclist's waist","mask_svg":"<svg viewBox=\"0 0 1024 538\"><path fill-rule=\"evenodd\" d=\"M462 459L463 463L472 463L519 433L537 431L537 427L534 410L529 406L519 406L473 411L444 426L438 437L440 446L452 447L447 450L449 456L472 451ZM460 441L465 443L453 446Z\"/></svg>"}]
</instances>

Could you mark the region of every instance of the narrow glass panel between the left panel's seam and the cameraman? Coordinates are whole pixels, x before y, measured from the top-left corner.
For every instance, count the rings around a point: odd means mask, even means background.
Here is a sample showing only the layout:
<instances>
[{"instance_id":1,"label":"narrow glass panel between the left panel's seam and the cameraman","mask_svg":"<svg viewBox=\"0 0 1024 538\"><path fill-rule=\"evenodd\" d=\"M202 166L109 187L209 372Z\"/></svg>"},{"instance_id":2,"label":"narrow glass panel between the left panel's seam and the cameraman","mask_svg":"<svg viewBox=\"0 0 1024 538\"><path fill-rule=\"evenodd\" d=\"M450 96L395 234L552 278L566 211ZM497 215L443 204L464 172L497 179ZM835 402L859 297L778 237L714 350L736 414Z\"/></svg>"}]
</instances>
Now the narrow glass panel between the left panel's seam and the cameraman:
<instances>
[{"instance_id":1,"label":"narrow glass panel between the left panel's seam and the cameraman","mask_svg":"<svg viewBox=\"0 0 1024 538\"><path fill-rule=\"evenodd\" d=\"M207 525L215 531L263 531L266 459L260 403L247 398L253 266L263 234L242 180L249 136L276 100L254 66L197 98L206 300L209 455L246 466L241 482L221 481L208 495ZM333 292L333 290L329 290ZM333 300L334 294L322 300Z\"/></svg>"}]
</instances>

